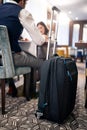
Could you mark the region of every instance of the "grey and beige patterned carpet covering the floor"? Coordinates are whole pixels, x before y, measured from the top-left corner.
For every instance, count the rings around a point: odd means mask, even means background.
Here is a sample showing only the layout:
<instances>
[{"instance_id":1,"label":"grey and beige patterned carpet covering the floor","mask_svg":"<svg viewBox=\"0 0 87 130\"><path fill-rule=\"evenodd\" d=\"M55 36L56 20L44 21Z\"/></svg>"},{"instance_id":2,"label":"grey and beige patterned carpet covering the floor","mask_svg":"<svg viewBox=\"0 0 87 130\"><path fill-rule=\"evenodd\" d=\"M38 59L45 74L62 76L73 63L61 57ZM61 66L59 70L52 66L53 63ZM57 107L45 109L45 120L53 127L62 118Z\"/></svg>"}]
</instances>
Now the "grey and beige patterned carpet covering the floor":
<instances>
[{"instance_id":1,"label":"grey and beige patterned carpet covering the floor","mask_svg":"<svg viewBox=\"0 0 87 130\"><path fill-rule=\"evenodd\" d=\"M2 115L0 110L0 130L87 130L87 109L84 108L85 65L77 63L77 66L79 76L76 105L64 124L37 119L34 113L38 99L26 101L24 97L12 98L6 95L8 113Z\"/></svg>"}]
</instances>

